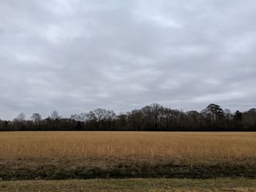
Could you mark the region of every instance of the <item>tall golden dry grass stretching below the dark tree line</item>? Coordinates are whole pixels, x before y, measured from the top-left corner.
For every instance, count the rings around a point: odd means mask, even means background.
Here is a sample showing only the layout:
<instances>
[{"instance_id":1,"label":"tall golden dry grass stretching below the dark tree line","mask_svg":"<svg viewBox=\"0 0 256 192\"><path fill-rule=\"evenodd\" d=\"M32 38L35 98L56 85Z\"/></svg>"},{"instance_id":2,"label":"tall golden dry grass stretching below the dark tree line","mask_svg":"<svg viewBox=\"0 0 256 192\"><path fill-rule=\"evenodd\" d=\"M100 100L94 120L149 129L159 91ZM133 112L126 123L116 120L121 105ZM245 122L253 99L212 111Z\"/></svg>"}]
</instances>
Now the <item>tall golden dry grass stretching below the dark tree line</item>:
<instances>
[{"instance_id":1,"label":"tall golden dry grass stretching below the dark tree line","mask_svg":"<svg viewBox=\"0 0 256 192\"><path fill-rule=\"evenodd\" d=\"M0 132L5 158L256 158L256 133Z\"/></svg>"}]
</instances>

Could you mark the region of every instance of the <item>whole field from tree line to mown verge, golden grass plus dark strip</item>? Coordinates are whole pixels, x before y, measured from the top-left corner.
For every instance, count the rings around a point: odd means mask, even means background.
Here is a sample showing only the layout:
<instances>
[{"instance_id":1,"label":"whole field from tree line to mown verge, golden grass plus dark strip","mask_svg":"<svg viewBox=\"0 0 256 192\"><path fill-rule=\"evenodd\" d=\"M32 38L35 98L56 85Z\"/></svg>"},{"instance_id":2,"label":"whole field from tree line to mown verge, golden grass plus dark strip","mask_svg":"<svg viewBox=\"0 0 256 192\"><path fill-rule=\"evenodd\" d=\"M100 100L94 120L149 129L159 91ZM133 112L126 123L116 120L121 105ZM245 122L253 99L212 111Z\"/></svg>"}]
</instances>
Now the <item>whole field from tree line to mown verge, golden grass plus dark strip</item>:
<instances>
[{"instance_id":1,"label":"whole field from tree line to mown verge, golden grass plus dark strip","mask_svg":"<svg viewBox=\"0 0 256 192\"><path fill-rule=\"evenodd\" d=\"M0 132L1 180L256 178L251 132Z\"/></svg>"}]
</instances>

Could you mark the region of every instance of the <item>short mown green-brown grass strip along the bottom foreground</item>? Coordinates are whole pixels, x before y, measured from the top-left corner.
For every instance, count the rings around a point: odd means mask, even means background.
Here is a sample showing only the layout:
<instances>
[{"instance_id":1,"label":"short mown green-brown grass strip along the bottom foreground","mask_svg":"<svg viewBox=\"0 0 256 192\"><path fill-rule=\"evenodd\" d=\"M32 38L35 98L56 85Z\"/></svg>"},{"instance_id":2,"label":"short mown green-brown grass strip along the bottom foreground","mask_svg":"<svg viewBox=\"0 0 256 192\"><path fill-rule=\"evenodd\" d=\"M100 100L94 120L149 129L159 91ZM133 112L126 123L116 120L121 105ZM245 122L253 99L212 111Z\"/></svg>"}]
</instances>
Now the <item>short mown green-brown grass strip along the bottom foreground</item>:
<instances>
[{"instance_id":1,"label":"short mown green-brown grass strip along the bottom foreground","mask_svg":"<svg viewBox=\"0 0 256 192\"><path fill-rule=\"evenodd\" d=\"M125 179L2 181L0 191L255 191L249 179Z\"/></svg>"}]
</instances>

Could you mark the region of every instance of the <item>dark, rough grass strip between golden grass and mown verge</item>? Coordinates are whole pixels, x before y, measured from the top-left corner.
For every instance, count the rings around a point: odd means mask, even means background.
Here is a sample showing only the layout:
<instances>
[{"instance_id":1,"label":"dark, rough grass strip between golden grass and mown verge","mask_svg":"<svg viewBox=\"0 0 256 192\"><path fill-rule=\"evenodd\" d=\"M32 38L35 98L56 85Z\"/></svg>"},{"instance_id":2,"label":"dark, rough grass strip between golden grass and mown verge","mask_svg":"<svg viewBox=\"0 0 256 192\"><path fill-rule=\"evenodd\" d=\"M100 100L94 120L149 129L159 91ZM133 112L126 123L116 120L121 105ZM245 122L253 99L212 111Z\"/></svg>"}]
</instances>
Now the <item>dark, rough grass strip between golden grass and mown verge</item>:
<instances>
[{"instance_id":1,"label":"dark, rough grass strip between golden grass and mown verge","mask_svg":"<svg viewBox=\"0 0 256 192\"><path fill-rule=\"evenodd\" d=\"M246 177L256 179L256 164L229 161L176 164L169 161L84 160L14 161L0 164L0 180L69 180L95 178L191 178ZM92 164L94 162L94 164Z\"/></svg>"}]
</instances>

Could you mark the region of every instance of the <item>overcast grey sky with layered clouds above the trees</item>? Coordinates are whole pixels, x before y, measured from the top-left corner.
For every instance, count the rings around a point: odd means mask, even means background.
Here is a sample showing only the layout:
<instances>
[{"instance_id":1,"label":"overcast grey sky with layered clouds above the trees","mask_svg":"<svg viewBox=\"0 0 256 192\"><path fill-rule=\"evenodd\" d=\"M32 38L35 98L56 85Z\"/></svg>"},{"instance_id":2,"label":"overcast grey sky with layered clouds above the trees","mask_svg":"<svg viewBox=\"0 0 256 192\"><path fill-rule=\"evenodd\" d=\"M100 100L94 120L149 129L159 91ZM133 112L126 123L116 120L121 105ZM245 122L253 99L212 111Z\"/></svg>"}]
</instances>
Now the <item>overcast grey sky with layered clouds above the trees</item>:
<instances>
[{"instance_id":1,"label":"overcast grey sky with layered clouds above the trees","mask_svg":"<svg viewBox=\"0 0 256 192\"><path fill-rule=\"evenodd\" d=\"M255 0L0 0L0 119L256 107Z\"/></svg>"}]
</instances>

